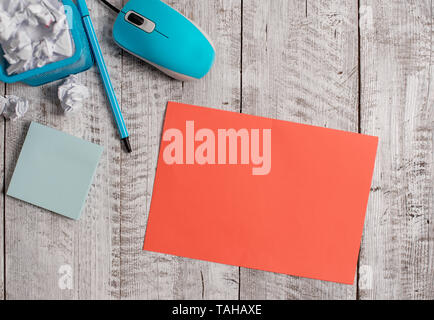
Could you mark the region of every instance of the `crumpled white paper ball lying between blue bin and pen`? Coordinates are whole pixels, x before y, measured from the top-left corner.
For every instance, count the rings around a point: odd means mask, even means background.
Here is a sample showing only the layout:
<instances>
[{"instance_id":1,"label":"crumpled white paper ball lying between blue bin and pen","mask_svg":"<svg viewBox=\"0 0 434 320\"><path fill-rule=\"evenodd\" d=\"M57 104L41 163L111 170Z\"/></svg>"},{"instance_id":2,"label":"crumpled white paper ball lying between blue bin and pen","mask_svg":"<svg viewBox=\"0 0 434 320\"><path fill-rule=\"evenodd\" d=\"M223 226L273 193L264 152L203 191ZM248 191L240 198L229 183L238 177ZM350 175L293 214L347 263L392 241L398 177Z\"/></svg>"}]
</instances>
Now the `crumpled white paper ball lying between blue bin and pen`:
<instances>
[{"instance_id":1,"label":"crumpled white paper ball lying between blue bin and pen","mask_svg":"<svg viewBox=\"0 0 434 320\"><path fill-rule=\"evenodd\" d=\"M77 76L72 75L59 86L58 96L60 106L67 113L83 107L84 102L89 98L89 90L78 82Z\"/></svg>"}]
</instances>

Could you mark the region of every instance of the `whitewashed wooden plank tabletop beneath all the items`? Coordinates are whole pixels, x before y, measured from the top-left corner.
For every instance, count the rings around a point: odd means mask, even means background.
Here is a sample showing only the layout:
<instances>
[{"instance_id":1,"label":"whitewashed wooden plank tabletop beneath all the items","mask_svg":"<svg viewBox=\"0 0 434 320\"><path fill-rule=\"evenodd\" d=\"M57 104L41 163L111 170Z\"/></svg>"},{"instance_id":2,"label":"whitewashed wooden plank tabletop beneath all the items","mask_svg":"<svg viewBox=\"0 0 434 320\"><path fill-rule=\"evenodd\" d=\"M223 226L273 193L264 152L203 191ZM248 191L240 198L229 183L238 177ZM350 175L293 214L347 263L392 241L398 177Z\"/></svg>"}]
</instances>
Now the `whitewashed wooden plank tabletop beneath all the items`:
<instances>
[{"instance_id":1,"label":"whitewashed wooden plank tabletop beneath all the items","mask_svg":"<svg viewBox=\"0 0 434 320\"><path fill-rule=\"evenodd\" d=\"M77 222L1 197L0 298L434 299L432 1L166 2L215 41L201 81L171 80L122 52L114 14L88 1L132 155L96 68L80 75L91 98L75 115L60 111L57 84L4 86L31 110L0 123L3 189L32 120L105 152ZM379 136L354 285L143 252L168 100Z\"/></svg>"}]
</instances>

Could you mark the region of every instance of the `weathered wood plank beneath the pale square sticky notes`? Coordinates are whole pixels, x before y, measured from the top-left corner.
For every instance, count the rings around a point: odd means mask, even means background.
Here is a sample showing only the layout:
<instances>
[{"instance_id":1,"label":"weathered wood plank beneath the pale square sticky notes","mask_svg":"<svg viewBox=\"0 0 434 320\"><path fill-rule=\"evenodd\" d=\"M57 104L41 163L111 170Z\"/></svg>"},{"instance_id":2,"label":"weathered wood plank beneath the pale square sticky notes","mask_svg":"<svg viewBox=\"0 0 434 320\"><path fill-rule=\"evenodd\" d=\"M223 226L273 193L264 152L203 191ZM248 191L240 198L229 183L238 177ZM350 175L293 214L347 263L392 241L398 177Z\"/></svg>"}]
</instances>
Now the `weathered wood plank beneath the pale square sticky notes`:
<instances>
[{"instance_id":1,"label":"weathered wood plank beneath the pale square sticky notes","mask_svg":"<svg viewBox=\"0 0 434 320\"><path fill-rule=\"evenodd\" d=\"M98 1L88 3L108 69L120 92L122 60L110 36L114 17ZM84 110L70 116L60 112L56 84L7 87L8 94L28 98L31 106L24 119L7 123L7 184L32 120L105 147L79 221L6 198L7 299L119 297L120 141L97 69L81 74L80 79L89 87L91 98ZM59 271L69 268L73 286L62 290Z\"/></svg>"}]
</instances>

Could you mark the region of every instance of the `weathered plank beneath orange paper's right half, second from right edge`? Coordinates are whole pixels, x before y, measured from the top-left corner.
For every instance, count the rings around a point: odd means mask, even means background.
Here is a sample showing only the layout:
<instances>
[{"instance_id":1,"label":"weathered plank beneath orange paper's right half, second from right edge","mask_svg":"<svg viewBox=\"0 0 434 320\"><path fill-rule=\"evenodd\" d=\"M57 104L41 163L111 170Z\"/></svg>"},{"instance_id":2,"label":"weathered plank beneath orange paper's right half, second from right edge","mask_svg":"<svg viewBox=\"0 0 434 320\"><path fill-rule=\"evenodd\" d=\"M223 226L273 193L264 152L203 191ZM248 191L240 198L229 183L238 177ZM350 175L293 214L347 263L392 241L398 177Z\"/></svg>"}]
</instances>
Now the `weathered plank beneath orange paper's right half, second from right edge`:
<instances>
[{"instance_id":1,"label":"weathered plank beneath orange paper's right half, second from right edge","mask_svg":"<svg viewBox=\"0 0 434 320\"><path fill-rule=\"evenodd\" d=\"M244 1L243 113L357 131L357 1ZM241 299L354 299L356 286L241 269Z\"/></svg>"}]
</instances>

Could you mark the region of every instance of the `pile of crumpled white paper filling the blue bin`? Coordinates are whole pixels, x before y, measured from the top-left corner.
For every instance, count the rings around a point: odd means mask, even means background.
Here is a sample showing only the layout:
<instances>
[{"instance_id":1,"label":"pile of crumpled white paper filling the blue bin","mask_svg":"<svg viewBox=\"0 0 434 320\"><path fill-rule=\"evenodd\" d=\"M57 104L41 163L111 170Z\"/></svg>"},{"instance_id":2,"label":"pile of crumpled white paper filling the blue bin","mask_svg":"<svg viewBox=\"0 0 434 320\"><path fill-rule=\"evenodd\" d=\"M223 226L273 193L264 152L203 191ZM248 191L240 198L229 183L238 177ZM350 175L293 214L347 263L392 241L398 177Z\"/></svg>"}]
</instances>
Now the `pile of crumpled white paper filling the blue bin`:
<instances>
[{"instance_id":1,"label":"pile of crumpled white paper filling the blue bin","mask_svg":"<svg viewBox=\"0 0 434 320\"><path fill-rule=\"evenodd\" d=\"M59 0L1 0L0 45L9 75L71 57L74 43L63 4Z\"/></svg>"}]
</instances>

